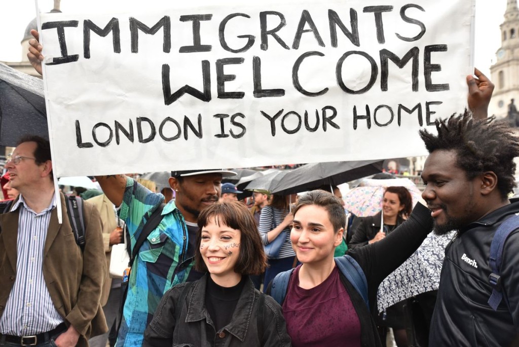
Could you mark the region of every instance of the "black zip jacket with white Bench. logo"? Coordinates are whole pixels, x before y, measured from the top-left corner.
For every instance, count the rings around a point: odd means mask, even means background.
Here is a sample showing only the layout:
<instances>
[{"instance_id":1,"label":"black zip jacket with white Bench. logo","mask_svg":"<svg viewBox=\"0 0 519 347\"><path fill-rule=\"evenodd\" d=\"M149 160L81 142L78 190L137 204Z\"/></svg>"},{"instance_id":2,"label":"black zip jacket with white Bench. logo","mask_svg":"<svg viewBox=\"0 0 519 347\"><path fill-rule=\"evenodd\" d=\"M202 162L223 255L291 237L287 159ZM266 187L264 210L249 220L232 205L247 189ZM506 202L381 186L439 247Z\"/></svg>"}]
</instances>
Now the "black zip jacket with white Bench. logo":
<instances>
[{"instance_id":1,"label":"black zip jacket with white Bench. logo","mask_svg":"<svg viewBox=\"0 0 519 347\"><path fill-rule=\"evenodd\" d=\"M431 347L510 346L519 334L519 229L504 244L500 270L511 310L504 300L497 311L487 303L492 292L490 244L499 225L517 212L519 201L514 200L468 224L447 245L431 323Z\"/></svg>"}]
</instances>

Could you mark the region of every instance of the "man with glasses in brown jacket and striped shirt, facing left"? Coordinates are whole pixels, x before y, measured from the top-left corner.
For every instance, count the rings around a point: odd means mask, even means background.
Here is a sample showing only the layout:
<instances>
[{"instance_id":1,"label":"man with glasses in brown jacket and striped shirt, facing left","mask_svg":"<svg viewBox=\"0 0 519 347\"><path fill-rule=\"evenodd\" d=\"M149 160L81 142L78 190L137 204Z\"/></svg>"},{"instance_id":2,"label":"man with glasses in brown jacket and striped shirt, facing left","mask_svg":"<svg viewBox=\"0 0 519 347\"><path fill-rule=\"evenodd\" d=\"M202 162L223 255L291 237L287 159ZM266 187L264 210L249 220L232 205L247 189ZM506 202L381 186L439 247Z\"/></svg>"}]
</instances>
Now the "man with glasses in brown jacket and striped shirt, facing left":
<instances>
[{"instance_id":1,"label":"man with glasses in brown jacket and striped shirt, facing left","mask_svg":"<svg viewBox=\"0 0 519 347\"><path fill-rule=\"evenodd\" d=\"M21 139L5 167L20 195L0 215L0 346L88 346L90 336L107 330L99 304L106 273L99 212L84 203L82 250L65 197L54 191L43 138Z\"/></svg>"}]
</instances>

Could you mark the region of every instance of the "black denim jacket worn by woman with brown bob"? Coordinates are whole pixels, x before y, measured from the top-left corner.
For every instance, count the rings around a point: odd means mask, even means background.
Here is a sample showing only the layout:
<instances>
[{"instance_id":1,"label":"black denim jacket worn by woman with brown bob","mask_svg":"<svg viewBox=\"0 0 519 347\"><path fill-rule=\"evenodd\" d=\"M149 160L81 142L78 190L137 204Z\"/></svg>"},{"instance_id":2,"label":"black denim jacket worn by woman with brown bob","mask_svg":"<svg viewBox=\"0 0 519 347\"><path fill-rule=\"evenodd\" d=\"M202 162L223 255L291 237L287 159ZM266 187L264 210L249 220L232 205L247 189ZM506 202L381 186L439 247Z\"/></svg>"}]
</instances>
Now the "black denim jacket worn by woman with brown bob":
<instances>
[{"instance_id":1,"label":"black denim jacket worn by woman with brown bob","mask_svg":"<svg viewBox=\"0 0 519 347\"><path fill-rule=\"evenodd\" d=\"M220 331L215 331L205 305L208 275L196 282L176 285L166 292L144 332L143 346L291 346L281 306L268 296L265 298L263 337L260 342L257 331L260 292L254 289L250 279L243 287L231 322ZM180 321L175 322L175 306L179 305L184 286L192 287L179 307Z\"/></svg>"}]
</instances>

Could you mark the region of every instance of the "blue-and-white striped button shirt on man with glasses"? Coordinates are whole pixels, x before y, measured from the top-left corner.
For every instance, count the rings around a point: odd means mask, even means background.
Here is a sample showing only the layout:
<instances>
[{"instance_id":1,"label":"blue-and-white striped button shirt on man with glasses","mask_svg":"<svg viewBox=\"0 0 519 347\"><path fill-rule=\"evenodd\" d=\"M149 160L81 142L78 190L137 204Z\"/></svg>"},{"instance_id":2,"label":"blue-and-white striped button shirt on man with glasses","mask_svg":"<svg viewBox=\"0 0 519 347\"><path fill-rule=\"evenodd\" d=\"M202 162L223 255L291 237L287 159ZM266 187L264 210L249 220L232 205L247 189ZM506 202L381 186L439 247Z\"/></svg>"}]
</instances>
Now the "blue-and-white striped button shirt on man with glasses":
<instances>
[{"instance_id":1,"label":"blue-and-white striped button shirt on man with glasses","mask_svg":"<svg viewBox=\"0 0 519 347\"><path fill-rule=\"evenodd\" d=\"M0 333L31 336L52 330L63 322L63 317L52 303L43 277L43 250L50 215L56 208L56 194L49 207L39 213L26 205L22 195L13 204L11 211L17 208L20 208L20 216L16 278L0 319Z\"/></svg>"}]
</instances>

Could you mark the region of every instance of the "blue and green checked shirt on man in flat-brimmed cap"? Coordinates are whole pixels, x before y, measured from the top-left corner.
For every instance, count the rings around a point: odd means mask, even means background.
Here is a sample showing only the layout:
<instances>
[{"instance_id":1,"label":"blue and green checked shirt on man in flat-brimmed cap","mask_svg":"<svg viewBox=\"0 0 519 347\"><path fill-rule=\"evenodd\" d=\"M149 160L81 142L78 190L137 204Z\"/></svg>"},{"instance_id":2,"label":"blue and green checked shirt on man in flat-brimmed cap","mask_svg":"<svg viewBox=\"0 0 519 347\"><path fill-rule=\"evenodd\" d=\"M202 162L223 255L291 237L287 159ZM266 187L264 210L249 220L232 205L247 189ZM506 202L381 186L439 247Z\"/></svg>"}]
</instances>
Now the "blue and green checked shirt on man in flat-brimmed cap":
<instances>
[{"instance_id":1,"label":"blue and green checked shirt on man in flat-brimmed cap","mask_svg":"<svg viewBox=\"0 0 519 347\"><path fill-rule=\"evenodd\" d=\"M128 178L120 218L126 222L131 247L146 220L160 206L164 197L152 193ZM117 346L142 346L144 330L162 295L176 284L185 282L194 258L187 257L187 226L174 201L162 210L162 221L147 237L130 272ZM192 252L191 252L192 253Z\"/></svg>"}]
</instances>

